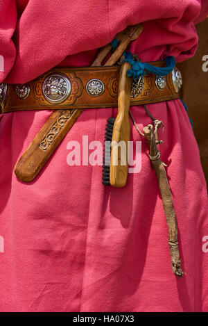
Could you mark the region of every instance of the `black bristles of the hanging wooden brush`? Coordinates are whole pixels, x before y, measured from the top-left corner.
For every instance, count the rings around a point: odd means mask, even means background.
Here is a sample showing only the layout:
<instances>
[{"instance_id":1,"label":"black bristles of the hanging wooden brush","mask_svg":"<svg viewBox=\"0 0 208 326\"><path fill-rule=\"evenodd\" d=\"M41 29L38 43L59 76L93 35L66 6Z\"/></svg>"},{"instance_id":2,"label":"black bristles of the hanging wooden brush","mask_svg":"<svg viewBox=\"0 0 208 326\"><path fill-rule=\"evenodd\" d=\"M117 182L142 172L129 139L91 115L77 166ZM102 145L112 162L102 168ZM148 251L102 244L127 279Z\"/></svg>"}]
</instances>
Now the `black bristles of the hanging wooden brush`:
<instances>
[{"instance_id":1,"label":"black bristles of the hanging wooden brush","mask_svg":"<svg viewBox=\"0 0 208 326\"><path fill-rule=\"evenodd\" d=\"M116 118L110 117L107 119L107 124L105 127L105 142L111 142L112 141L112 132L114 129L114 122ZM102 177L102 184L104 186L110 185L110 153L111 153L111 147L107 146L105 147L104 143L104 149L103 149L103 177ZM105 158L106 156L106 158Z\"/></svg>"}]
</instances>

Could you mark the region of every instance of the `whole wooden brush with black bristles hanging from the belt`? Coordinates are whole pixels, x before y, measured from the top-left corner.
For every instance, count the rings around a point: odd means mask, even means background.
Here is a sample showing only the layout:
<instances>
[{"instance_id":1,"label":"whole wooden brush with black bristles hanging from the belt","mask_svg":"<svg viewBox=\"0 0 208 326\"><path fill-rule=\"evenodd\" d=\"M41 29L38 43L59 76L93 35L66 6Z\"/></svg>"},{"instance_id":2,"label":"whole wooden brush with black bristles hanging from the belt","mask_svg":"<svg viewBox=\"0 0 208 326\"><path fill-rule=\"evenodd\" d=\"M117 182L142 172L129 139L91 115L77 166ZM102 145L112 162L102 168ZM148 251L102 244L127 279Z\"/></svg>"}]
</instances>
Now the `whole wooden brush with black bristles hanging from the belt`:
<instances>
[{"instance_id":1,"label":"whole wooden brush with black bristles hanging from the belt","mask_svg":"<svg viewBox=\"0 0 208 326\"><path fill-rule=\"evenodd\" d=\"M130 63L123 63L119 75L118 113L107 120L103 152L103 184L124 187L128 176L128 142L130 141L130 95L132 77L126 72Z\"/></svg>"}]
</instances>

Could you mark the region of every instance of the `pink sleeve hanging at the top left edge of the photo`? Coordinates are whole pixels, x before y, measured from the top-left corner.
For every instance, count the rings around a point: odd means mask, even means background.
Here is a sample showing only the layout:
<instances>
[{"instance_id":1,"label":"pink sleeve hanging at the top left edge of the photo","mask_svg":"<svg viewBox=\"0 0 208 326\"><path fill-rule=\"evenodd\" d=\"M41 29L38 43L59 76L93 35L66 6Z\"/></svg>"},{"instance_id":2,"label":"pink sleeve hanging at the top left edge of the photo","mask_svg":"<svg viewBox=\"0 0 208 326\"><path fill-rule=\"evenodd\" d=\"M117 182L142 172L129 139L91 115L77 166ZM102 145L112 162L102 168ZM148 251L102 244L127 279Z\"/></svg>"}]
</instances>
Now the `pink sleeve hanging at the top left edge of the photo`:
<instances>
[{"instance_id":1,"label":"pink sleeve hanging at the top left edge of the photo","mask_svg":"<svg viewBox=\"0 0 208 326\"><path fill-rule=\"evenodd\" d=\"M17 24L15 0L0 0L0 83L15 62L16 49L12 35Z\"/></svg>"}]
</instances>

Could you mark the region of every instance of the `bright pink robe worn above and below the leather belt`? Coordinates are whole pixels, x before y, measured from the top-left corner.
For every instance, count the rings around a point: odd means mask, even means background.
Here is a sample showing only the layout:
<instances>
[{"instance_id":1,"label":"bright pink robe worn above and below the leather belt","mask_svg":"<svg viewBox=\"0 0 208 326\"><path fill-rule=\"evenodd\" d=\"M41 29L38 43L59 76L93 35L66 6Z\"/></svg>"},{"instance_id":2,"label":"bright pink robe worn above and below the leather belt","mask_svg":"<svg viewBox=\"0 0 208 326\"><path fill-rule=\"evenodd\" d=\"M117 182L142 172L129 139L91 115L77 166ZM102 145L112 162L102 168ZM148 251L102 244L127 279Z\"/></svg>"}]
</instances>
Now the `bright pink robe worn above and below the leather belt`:
<instances>
[{"instance_id":1,"label":"bright pink robe worn above and below the leather belt","mask_svg":"<svg viewBox=\"0 0 208 326\"><path fill-rule=\"evenodd\" d=\"M0 83L25 83L56 65L89 66L99 47L139 22L144 32L132 53L144 61L186 60L196 51L194 23L205 19L207 2L19 0L17 17L16 1L0 0ZM83 135L103 142L116 108L84 111L29 184L13 169L51 111L7 113L0 115L0 311L208 311L207 188L198 145L179 100L148 109L165 125L159 150L184 277L172 273L155 172L133 125L141 171L128 175L125 188L103 186L100 165L67 164L67 144L82 144ZM150 123L142 106L132 113L139 129Z\"/></svg>"}]
</instances>

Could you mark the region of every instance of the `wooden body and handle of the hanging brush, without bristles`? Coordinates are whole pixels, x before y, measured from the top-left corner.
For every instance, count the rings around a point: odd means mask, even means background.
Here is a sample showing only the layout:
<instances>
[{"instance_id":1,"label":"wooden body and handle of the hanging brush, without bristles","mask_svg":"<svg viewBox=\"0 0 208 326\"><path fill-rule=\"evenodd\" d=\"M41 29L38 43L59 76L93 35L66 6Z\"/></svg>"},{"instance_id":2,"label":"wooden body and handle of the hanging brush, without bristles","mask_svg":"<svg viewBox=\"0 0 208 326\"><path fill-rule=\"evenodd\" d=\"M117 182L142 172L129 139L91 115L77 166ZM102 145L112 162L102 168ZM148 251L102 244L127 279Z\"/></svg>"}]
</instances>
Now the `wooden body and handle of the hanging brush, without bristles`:
<instances>
[{"instance_id":1,"label":"wooden body and handle of the hanging brush, without bristles","mask_svg":"<svg viewBox=\"0 0 208 326\"><path fill-rule=\"evenodd\" d=\"M129 107L132 77L126 72L130 63L123 63L119 76L118 114L112 133L112 151L110 156L110 184L123 187L128 176L128 141L130 141ZM120 142L120 144L119 144ZM117 164L117 165L115 165Z\"/></svg>"}]
</instances>

